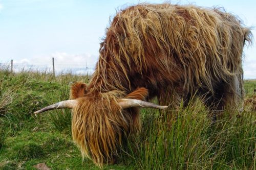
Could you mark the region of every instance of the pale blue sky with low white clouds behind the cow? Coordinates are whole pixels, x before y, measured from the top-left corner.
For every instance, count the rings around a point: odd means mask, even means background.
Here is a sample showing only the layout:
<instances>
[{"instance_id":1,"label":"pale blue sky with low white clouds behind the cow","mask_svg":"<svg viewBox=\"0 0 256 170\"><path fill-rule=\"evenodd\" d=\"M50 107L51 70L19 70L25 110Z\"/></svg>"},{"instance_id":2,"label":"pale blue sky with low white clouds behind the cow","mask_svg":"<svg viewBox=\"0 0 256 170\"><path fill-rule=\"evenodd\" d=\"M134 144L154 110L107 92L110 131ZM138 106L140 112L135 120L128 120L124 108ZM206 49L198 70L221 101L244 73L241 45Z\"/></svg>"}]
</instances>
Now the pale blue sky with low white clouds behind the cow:
<instances>
[{"instance_id":1,"label":"pale blue sky with low white clouds behind the cow","mask_svg":"<svg viewBox=\"0 0 256 170\"><path fill-rule=\"evenodd\" d=\"M0 63L92 64L99 42L116 10L139 1L0 0ZM163 3L164 1L140 1ZM178 1L172 1L177 3ZM256 1L179 1L203 7L223 6L251 27ZM256 32L252 31L254 35ZM255 43L254 43L255 44ZM256 47L245 47L245 78L256 78ZM71 60L72 58L72 60Z\"/></svg>"}]
</instances>

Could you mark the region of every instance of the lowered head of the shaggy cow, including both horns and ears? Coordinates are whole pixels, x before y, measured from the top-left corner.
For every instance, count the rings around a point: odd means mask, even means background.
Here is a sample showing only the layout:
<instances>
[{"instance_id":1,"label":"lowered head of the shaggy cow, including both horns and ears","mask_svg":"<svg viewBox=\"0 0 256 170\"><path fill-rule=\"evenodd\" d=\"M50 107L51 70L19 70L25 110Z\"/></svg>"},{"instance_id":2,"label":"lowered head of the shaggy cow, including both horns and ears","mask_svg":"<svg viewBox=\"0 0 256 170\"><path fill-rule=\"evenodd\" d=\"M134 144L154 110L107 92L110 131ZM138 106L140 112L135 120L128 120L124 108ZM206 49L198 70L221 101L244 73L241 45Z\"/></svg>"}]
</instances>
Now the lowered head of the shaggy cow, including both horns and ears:
<instances>
[{"instance_id":1,"label":"lowered head of the shaggy cow, including both horns and ears","mask_svg":"<svg viewBox=\"0 0 256 170\"><path fill-rule=\"evenodd\" d=\"M73 109L73 140L83 157L92 158L101 166L104 162L113 162L124 135L140 129L138 107L167 108L143 101L147 94L145 88L138 88L130 94L92 92L86 89L86 84L74 83L71 100L45 107L35 114L60 108Z\"/></svg>"}]
</instances>

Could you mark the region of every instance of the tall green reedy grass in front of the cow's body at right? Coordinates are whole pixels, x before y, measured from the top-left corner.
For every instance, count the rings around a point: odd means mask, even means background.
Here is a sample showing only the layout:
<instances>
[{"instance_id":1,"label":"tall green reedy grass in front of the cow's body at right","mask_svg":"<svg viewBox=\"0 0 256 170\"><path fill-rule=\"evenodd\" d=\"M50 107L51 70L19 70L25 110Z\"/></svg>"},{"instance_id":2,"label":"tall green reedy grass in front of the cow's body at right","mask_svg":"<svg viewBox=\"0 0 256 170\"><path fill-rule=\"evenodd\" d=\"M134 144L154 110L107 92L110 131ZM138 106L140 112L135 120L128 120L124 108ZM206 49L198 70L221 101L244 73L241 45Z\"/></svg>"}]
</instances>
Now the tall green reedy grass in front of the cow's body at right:
<instances>
[{"instance_id":1,"label":"tall green reedy grass in front of the cow's body at right","mask_svg":"<svg viewBox=\"0 0 256 170\"><path fill-rule=\"evenodd\" d=\"M212 124L199 100L167 112L143 111L126 151L138 169L255 168L255 113L227 111Z\"/></svg>"}]
</instances>

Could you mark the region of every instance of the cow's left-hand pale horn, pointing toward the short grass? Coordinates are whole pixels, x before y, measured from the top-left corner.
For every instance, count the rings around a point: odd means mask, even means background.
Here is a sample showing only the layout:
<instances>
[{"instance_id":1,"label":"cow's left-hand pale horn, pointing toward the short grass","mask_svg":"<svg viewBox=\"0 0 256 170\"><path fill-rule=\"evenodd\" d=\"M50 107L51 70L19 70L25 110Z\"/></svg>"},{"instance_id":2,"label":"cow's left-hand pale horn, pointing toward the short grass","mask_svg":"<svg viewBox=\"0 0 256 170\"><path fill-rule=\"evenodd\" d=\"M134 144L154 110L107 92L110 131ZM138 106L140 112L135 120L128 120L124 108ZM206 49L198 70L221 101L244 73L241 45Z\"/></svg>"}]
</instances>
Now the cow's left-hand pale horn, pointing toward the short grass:
<instances>
[{"instance_id":1,"label":"cow's left-hand pale horn, pointing toward the short grass","mask_svg":"<svg viewBox=\"0 0 256 170\"><path fill-rule=\"evenodd\" d=\"M42 109L36 111L35 114L42 113L42 112L45 112L48 110L54 110L54 109L65 109L65 108L74 109L76 107L76 105L77 105L76 100L62 101L62 102L58 102L53 105L47 106L45 108L42 108Z\"/></svg>"}]
</instances>

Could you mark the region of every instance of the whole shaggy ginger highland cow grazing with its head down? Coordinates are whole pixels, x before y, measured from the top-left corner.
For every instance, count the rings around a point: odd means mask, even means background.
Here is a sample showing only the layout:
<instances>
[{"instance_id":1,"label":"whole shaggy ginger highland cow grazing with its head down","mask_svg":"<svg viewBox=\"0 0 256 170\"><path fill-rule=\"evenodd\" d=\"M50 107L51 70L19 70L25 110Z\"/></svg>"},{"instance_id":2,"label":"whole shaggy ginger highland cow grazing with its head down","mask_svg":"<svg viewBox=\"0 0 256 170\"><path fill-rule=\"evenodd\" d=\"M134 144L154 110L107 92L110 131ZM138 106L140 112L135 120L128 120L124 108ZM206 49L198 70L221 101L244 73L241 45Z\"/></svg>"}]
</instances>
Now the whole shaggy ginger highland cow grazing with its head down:
<instances>
[{"instance_id":1,"label":"whole shaggy ginger highland cow grazing with its head down","mask_svg":"<svg viewBox=\"0 0 256 170\"><path fill-rule=\"evenodd\" d=\"M72 137L82 156L113 162L124 135L138 132L138 107L179 106L196 95L211 110L243 99L242 53L250 30L223 9L139 4L113 18L90 83L70 100L35 113L73 109ZM146 102L157 96L159 104Z\"/></svg>"}]
</instances>

